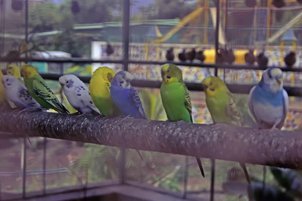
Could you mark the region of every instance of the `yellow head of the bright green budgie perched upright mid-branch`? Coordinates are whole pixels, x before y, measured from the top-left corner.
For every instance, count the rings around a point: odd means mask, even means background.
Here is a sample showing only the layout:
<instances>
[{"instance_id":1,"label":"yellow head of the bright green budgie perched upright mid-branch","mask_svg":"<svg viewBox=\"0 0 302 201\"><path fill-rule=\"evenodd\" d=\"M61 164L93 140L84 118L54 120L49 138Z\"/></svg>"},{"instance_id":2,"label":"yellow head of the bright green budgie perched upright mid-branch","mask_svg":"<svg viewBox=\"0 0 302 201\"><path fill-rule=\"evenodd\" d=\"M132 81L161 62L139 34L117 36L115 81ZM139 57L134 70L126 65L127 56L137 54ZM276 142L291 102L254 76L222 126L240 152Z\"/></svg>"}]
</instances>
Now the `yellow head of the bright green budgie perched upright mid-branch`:
<instances>
[{"instance_id":1,"label":"yellow head of the bright green budgie perched upright mid-branch","mask_svg":"<svg viewBox=\"0 0 302 201\"><path fill-rule=\"evenodd\" d=\"M163 83L183 82L182 71L174 64L166 63L161 68Z\"/></svg>"}]
</instances>

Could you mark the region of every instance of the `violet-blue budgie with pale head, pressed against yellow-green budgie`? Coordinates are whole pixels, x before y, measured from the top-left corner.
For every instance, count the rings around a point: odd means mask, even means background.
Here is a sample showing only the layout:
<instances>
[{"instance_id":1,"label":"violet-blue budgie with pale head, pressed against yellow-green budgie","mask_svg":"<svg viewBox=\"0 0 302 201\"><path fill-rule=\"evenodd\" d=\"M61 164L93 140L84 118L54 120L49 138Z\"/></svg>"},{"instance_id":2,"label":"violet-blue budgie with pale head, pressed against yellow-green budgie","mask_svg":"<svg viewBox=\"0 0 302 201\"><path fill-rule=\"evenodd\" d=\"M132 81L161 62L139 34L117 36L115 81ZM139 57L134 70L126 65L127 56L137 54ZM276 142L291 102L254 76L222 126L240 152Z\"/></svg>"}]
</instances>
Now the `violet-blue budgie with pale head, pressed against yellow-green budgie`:
<instances>
[{"instance_id":1,"label":"violet-blue budgie with pale head, pressed against yellow-green budgie","mask_svg":"<svg viewBox=\"0 0 302 201\"><path fill-rule=\"evenodd\" d=\"M110 87L112 100L125 116L147 119L139 96L130 84L132 79L133 76L127 71L119 71L115 74ZM139 151L136 151L141 157Z\"/></svg>"}]
</instances>

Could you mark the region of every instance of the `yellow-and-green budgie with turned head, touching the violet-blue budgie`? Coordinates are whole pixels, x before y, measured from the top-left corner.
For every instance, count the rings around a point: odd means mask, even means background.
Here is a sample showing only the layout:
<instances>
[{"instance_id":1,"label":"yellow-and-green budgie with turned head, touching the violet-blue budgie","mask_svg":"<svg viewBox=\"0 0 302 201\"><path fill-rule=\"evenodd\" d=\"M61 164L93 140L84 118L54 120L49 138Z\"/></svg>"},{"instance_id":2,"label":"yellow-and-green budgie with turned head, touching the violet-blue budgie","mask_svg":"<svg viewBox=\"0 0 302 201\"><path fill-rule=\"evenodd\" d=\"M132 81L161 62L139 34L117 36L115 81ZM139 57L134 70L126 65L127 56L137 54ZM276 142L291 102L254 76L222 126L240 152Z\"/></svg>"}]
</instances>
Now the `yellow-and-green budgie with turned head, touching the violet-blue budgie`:
<instances>
[{"instance_id":1,"label":"yellow-and-green budgie with turned head, touching the violet-blue budgie","mask_svg":"<svg viewBox=\"0 0 302 201\"><path fill-rule=\"evenodd\" d=\"M117 115L119 113L110 95L110 86L114 75L115 73L111 68L107 66L99 67L93 72L90 80L89 92L91 98L104 116Z\"/></svg>"}]
</instances>

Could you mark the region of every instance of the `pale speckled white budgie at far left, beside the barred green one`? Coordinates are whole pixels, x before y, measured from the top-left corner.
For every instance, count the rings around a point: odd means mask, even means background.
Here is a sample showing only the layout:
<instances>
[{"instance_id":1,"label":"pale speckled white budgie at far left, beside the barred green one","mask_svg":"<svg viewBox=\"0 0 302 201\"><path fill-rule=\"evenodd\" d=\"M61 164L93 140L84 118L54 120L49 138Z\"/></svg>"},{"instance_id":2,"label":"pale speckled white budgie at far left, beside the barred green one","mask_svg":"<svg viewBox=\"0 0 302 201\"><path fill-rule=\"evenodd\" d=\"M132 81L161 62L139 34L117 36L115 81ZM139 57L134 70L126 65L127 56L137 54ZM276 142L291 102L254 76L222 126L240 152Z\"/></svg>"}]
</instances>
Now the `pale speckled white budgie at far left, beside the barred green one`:
<instances>
[{"instance_id":1,"label":"pale speckled white budgie at far left, beside the barred green one","mask_svg":"<svg viewBox=\"0 0 302 201\"><path fill-rule=\"evenodd\" d=\"M27 88L16 77L4 75L1 79L6 89L7 97L20 109L42 109L36 100L29 94Z\"/></svg>"}]
</instances>

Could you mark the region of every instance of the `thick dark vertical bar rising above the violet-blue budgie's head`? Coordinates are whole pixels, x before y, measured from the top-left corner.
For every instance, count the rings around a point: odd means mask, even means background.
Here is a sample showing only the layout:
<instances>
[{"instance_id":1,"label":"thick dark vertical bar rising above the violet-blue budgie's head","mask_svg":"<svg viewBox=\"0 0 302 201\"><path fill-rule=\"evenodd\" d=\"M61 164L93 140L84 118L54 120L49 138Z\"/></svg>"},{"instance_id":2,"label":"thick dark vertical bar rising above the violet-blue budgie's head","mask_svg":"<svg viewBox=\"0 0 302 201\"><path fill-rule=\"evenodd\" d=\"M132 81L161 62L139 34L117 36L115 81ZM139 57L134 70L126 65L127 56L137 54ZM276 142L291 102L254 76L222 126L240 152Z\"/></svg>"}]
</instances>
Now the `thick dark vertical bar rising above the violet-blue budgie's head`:
<instances>
[{"instance_id":1,"label":"thick dark vertical bar rising above the violet-blue budgie's head","mask_svg":"<svg viewBox=\"0 0 302 201\"><path fill-rule=\"evenodd\" d=\"M124 0L123 4L123 44L124 44L124 70L128 71L129 64L129 40L130 40L130 0Z\"/></svg>"}]
</instances>

